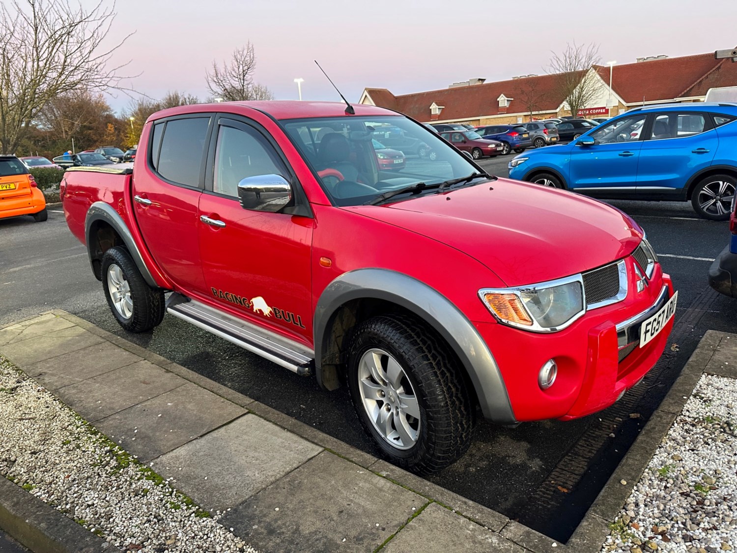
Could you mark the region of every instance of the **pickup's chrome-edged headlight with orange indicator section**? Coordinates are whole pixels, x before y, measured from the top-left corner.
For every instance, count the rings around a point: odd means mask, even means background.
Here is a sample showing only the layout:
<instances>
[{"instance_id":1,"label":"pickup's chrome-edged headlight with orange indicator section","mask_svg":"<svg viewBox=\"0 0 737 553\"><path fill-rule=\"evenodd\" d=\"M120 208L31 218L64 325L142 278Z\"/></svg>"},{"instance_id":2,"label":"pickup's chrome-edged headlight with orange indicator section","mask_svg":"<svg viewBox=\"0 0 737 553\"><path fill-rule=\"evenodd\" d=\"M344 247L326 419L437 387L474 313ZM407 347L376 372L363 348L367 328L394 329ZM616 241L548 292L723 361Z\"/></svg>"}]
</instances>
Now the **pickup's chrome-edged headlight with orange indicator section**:
<instances>
[{"instance_id":1,"label":"pickup's chrome-edged headlight with orange indicator section","mask_svg":"<svg viewBox=\"0 0 737 553\"><path fill-rule=\"evenodd\" d=\"M585 312L581 275L517 288L483 288L481 301L495 319L533 332L555 332Z\"/></svg>"}]
</instances>

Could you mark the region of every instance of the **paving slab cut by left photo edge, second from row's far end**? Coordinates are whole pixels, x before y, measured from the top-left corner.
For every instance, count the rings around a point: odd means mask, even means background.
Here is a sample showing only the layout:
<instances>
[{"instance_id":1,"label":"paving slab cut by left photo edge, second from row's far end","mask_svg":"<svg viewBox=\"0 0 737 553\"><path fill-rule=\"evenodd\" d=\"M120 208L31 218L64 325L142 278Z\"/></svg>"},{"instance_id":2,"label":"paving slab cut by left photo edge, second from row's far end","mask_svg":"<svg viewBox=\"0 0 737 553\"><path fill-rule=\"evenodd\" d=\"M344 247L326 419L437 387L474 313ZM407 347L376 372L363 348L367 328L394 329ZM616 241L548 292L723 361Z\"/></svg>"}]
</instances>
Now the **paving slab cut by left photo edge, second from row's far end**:
<instances>
[{"instance_id":1,"label":"paving slab cut by left photo edge, second from row's far end","mask_svg":"<svg viewBox=\"0 0 737 553\"><path fill-rule=\"evenodd\" d=\"M44 359L84 349L102 342L102 338L80 327L68 327L33 339L2 346L0 351L15 365L23 368Z\"/></svg>"}]
</instances>

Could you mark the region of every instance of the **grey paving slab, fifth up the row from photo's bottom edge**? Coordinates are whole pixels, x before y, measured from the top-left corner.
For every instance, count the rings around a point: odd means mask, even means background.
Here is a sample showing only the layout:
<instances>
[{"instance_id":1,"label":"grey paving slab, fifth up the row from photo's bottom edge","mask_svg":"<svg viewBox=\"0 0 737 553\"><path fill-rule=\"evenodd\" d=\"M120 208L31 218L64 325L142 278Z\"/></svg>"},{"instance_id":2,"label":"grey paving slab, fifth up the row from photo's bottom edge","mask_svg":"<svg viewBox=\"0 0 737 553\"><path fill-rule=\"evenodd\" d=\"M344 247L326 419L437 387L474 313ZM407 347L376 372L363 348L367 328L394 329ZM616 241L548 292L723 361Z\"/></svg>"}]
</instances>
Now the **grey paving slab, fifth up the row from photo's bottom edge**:
<instances>
[{"instance_id":1,"label":"grey paving slab, fifth up the row from photo's bottom edge","mask_svg":"<svg viewBox=\"0 0 737 553\"><path fill-rule=\"evenodd\" d=\"M55 394L86 420L94 422L184 384L184 378L149 361L139 361L64 386Z\"/></svg>"}]
</instances>

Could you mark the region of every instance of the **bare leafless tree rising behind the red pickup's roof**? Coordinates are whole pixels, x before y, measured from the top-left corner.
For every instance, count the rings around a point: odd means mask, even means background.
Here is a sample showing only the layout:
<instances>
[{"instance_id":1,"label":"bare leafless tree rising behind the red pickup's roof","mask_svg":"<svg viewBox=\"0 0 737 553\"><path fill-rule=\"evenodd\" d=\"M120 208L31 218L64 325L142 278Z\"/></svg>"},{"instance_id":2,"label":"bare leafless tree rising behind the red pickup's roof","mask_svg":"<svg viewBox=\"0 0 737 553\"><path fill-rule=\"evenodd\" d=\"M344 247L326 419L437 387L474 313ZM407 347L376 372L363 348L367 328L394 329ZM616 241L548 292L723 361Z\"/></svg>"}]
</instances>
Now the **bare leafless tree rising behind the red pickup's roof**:
<instances>
[{"instance_id":1,"label":"bare leafless tree rising behind the red pickup's roof","mask_svg":"<svg viewBox=\"0 0 737 553\"><path fill-rule=\"evenodd\" d=\"M249 41L242 48L233 52L231 62L223 62L223 66L212 62L212 73L205 73L207 88L215 97L226 102L237 100L273 100L271 91L263 85L254 83L256 54L254 45Z\"/></svg>"}]
</instances>

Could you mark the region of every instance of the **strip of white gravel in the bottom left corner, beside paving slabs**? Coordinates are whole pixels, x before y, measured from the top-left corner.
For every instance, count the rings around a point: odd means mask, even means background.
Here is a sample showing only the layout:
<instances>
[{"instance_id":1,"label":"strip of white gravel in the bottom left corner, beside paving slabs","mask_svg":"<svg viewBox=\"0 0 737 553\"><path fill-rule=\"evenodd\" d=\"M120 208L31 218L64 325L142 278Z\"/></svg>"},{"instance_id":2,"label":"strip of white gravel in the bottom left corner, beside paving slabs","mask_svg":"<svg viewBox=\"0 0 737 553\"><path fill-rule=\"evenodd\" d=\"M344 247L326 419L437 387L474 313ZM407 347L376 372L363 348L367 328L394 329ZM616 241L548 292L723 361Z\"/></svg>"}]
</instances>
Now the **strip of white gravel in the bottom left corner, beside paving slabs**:
<instances>
[{"instance_id":1,"label":"strip of white gravel in the bottom left corner, beside paving slabs","mask_svg":"<svg viewBox=\"0 0 737 553\"><path fill-rule=\"evenodd\" d=\"M0 474L130 552L248 552L228 532L0 356Z\"/></svg>"}]
</instances>

